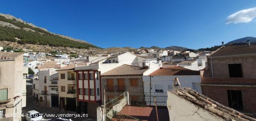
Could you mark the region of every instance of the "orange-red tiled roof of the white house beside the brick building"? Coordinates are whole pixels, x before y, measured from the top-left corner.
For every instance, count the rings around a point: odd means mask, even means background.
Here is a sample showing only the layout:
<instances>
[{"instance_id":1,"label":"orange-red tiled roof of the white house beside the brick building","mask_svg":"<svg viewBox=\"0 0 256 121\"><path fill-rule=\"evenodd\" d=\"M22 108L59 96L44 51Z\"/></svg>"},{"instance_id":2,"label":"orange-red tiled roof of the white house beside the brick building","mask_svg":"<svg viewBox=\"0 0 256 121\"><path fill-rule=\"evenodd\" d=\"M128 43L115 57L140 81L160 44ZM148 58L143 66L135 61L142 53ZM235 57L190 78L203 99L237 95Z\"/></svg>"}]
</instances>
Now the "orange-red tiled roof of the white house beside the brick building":
<instances>
[{"instance_id":1,"label":"orange-red tiled roof of the white house beside the brick building","mask_svg":"<svg viewBox=\"0 0 256 121\"><path fill-rule=\"evenodd\" d=\"M172 76L172 75L200 75L200 71L189 70L179 66L160 68L155 70L149 76Z\"/></svg>"}]
</instances>

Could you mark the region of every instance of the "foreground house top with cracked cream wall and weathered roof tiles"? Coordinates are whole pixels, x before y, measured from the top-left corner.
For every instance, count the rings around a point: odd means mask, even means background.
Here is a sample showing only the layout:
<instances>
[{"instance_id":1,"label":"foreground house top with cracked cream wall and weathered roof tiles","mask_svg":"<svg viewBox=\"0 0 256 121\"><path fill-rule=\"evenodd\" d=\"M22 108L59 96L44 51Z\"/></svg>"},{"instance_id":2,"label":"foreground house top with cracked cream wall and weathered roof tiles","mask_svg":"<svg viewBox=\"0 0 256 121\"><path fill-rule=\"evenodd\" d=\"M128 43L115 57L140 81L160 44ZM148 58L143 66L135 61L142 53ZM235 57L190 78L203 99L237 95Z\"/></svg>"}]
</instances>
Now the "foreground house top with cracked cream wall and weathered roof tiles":
<instances>
[{"instance_id":1,"label":"foreground house top with cracked cream wall and weathered roof tiles","mask_svg":"<svg viewBox=\"0 0 256 121\"><path fill-rule=\"evenodd\" d=\"M190 88L168 90L169 121L255 121Z\"/></svg>"}]
</instances>

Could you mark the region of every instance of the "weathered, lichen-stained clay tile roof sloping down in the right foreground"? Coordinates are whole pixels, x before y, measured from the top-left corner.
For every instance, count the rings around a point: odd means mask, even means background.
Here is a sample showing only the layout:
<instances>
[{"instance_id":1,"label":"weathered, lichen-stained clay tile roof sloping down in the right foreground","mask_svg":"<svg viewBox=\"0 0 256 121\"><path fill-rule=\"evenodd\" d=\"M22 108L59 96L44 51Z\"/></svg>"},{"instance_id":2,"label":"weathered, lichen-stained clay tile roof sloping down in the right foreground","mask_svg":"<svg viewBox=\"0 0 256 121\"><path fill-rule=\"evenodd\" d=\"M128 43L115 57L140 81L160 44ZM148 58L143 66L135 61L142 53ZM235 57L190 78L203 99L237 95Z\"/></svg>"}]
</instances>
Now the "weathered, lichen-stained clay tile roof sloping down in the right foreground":
<instances>
[{"instance_id":1,"label":"weathered, lichen-stained clay tile roof sloping down in the right foreground","mask_svg":"<svg viewBox=\"0 0 256 121\"><path fill-rule=\"evenodd\" d=\"M214 100L210 99L207 96L204 96L193 89L190 88L180 88L172 89L171 93L181 97L184 100L187 100L194 105L204 108L210 113L217 115L225 121L255 121L256 119L244 115L235 109L226 107Z\"/></svg>"}]
</instances>

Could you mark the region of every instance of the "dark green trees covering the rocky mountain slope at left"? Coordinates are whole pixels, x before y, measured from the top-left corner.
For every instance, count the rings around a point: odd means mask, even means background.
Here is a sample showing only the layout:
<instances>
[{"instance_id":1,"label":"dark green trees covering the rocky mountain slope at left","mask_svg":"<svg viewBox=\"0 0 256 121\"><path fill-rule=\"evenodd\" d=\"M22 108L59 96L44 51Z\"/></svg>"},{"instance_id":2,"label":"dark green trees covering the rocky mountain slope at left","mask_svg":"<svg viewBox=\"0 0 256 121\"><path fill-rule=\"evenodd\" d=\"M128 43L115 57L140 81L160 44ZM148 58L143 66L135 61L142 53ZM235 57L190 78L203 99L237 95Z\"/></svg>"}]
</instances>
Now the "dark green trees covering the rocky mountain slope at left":
<instances>
[{"instance_id":1,"label":"dark green trees covering the rocky mountain slope at left","mask_svg":"<svg viewBox=\"0 0 256 121\"><path fill-rule=\"evenodd\" d=\"M0 21L8 22L20 28L30 28L35 31L32 32L23 29L14 29L7 26L0 26L0 41L5 40L11 42L18 42L19 44L50 45L54 47L61 46L79 49L96 47L87 43L81 43L67 38L62 38L59 35L54 35L40 28L35 28L31 25L24 24L20 21L17 21L16 19L6 19L5 17L0 16ZM16 40L15 38L19 38L20 40Z\"/></svg>"}]
</instances>

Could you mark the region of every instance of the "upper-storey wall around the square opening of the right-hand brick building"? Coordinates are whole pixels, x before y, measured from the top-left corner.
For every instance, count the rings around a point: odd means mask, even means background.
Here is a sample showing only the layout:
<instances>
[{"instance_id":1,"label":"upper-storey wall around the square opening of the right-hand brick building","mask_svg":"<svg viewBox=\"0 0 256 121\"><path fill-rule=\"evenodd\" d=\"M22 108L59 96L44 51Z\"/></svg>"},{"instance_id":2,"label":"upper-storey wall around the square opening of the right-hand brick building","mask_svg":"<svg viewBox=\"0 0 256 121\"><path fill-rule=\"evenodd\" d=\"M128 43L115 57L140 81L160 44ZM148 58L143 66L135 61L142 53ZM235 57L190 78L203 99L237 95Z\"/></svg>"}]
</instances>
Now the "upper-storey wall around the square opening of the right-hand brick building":
<instances>
[{"instance_id":1,"label":"upper-storey wall around the square opening of the right-hand brick building","mask_svg":"<svg viewBox=\"0 0 256 121\"><path fill-rule=\"evenodd\" d=\"M214 77L229 77L229 64L242 64L242 73L245 78L256 77L256 56L248 57L208 57L209 75L211 77L211 62Z\"/></svg>"}]
</instances>

